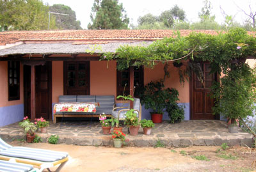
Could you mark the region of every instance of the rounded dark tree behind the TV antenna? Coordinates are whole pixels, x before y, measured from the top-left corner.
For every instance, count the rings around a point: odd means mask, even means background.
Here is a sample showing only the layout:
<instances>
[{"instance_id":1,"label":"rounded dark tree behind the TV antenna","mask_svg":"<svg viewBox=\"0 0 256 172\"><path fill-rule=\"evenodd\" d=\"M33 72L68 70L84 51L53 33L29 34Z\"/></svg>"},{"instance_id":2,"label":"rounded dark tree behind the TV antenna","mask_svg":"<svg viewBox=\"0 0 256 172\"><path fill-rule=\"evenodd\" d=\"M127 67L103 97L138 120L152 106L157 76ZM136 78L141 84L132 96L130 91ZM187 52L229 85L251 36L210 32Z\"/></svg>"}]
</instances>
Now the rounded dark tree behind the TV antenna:
<instances>
[{"instance_id":1,"label":"rounded dark tree behind the TV antenna","mask_svg":"<svg viewBox=\"0 0 256 172\"><path fill-rule=\"evenodd\" d=\"M82 29L81 22L76 20L76 12L74 12L69 6L64 4L54 4L50 6L51 12L65 13L67 15L55 15L56 25L61 29Z\"/></svg>"}]
</instances>

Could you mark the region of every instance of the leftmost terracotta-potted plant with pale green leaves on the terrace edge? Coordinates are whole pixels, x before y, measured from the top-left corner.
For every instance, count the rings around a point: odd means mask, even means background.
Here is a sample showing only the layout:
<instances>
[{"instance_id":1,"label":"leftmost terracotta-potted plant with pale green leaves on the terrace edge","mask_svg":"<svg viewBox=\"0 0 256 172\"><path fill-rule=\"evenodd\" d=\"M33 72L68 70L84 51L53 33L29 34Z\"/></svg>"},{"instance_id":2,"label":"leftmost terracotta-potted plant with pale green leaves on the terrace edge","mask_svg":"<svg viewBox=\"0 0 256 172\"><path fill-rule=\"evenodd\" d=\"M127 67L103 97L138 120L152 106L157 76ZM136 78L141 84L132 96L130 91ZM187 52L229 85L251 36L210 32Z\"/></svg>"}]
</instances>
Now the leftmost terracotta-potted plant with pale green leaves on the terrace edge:
<instances>
[{"instance_id":1,"label":"leftmost terracotta-potted plant with pale green leaves on the terrace edge","mask_svg":"<svg viewBox=\"0 0 256 172\"><path fill-rule=\"evenodd\" d=\"M28 116L26 116L23 121L19 122L19 125L26 133L27 142L33 143L33 140L35 139L35 132L37 130L35 123L29 121Z\"/></svg>"}]
</instances>

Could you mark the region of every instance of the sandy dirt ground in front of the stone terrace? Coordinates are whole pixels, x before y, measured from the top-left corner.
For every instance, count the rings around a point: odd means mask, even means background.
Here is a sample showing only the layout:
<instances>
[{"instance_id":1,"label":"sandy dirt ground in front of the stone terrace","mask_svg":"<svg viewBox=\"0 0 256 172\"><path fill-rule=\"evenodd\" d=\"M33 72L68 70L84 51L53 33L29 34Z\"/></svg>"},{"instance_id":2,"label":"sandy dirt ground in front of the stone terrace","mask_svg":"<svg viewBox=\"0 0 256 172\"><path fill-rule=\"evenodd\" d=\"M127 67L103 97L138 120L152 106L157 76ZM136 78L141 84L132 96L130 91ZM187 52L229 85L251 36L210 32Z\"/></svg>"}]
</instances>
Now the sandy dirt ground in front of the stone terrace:
<instances>
[{"instance_id":1,"label":"sandy dirt ground in front of the stone terrace","mask_svg":"<svg viewBox=\"0 0 256 172\"><path fill-rule=\"evenodd\" d=\"M70 158L61 171L256 171L256 150L240 146L223 150L221 146L113 148L17 141L10 144L68 152Z\"/></svg>"}]
</instances>

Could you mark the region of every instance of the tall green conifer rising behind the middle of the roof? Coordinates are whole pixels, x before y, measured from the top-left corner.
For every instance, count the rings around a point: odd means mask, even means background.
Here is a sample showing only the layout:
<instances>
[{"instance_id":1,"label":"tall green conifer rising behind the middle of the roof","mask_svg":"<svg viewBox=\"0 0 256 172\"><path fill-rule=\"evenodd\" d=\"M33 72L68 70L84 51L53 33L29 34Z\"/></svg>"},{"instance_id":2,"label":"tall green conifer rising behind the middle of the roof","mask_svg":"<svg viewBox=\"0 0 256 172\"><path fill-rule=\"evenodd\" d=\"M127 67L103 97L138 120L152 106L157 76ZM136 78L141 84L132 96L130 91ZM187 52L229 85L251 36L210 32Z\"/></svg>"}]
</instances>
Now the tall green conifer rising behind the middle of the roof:
<instances>
[{"instance_id":1,"label":"tall green conifer rising behind the middle of the roof","mask_svg":"<svg viewBox=\"0 0 256 172\"><path fill-rule=\"evenodd\" d=\"M128 29L129 18L118 0L95 0L88 29Z\"/></svg>"}]
</instances>

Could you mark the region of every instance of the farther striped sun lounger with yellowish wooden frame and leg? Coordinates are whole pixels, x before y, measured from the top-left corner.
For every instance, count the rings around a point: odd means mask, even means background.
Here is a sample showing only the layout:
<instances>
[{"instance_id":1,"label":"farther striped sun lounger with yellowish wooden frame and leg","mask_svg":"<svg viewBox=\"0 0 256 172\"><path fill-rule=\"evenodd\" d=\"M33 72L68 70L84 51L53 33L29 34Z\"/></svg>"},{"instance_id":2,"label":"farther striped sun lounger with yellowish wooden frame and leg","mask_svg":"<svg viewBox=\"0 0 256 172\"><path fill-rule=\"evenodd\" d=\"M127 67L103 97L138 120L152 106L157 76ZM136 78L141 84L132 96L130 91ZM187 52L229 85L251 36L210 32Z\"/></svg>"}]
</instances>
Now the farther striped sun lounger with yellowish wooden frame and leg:
<instances>
[{"instance_id":1,"label":"farther striped sun lounger with yellowish wooden frame and leg","mask_svg":"<svg viewBox=\"0 0 256 172\"><path fill-rule=\"evenodd\" d=\"M36 166L40 168L39 171L43 171L44 169L51 171L49 168L60 164L56 169L56 171L60 171L68 160L68 153L11 146L0 138L0 160L10 159L15 159L16 162Z\"/></svg>"}]
</instances>

